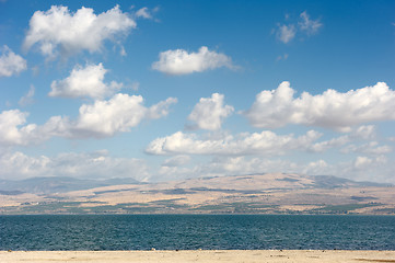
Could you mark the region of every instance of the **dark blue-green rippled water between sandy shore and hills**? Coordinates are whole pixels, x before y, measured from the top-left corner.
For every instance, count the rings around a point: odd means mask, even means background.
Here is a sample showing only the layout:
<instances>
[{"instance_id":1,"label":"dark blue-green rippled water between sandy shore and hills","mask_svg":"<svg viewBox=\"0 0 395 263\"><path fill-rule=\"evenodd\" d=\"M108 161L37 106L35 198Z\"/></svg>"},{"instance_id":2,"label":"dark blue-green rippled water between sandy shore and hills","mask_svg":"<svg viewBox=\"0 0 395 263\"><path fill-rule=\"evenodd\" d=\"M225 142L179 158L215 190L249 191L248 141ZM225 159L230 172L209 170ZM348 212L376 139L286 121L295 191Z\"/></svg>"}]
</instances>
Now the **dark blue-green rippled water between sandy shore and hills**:
<instances>
[{"instance_id":1,"label":"dark blue-green rippled water between sandy shore and hills","mask_svg":"<svg viewBox=\"0 0 395 263\"><path fill-rule=\"evenodd\" d=\"M395 250L393 216L0 216L0 250Z\"/></svg>"}]
</instances>

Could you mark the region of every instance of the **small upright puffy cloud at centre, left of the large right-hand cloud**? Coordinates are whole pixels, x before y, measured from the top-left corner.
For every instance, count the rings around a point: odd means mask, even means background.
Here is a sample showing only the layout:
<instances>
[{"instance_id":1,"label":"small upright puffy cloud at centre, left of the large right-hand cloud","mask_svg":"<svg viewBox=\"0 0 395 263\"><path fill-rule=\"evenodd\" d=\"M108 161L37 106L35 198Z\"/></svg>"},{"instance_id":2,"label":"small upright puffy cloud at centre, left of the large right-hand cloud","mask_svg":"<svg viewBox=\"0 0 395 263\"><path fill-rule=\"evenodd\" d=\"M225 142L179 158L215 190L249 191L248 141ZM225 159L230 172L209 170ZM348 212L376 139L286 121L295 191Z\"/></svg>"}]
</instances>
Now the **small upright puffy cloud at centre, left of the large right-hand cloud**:
<instances>
[{"instance_id":1,"label":"small upright puffy cloud at centre, left of the large right-hand cloud","mask_svg":"<svg viewBox=\"0 0 395 263\"><path fill-rule=\"evenodd\" d=\"M188 119L194 124L188 126L191 129L220 129L221 124L234 108L223 105L223 94L213 93L211 98L201 98L189 114Z\"/></svg>"}]
</instances>

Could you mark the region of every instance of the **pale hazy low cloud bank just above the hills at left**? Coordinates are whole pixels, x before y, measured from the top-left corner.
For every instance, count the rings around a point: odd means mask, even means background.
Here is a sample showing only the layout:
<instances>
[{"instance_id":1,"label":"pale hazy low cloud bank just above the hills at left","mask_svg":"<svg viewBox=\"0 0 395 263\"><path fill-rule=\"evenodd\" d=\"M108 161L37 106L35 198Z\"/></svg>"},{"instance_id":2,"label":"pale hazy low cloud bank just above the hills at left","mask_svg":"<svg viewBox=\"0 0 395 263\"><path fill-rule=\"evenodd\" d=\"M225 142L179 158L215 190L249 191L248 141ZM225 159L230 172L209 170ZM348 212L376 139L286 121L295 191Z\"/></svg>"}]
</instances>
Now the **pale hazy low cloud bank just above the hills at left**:
<instances>
[{"instance_id":1,"label":"pale hazy low cloud bank just above the hills at left","mask_svg":"<svg viewBox=\"0 0 395 263\"><path fill-rule=\"evenodd\" d=\"M20 151L0 155L1 179L34 176L72 176L79 179L150 178L144 160L114 158L106 151L63 152L55 157L26 156Z\"/></svg>"}]
</instances>

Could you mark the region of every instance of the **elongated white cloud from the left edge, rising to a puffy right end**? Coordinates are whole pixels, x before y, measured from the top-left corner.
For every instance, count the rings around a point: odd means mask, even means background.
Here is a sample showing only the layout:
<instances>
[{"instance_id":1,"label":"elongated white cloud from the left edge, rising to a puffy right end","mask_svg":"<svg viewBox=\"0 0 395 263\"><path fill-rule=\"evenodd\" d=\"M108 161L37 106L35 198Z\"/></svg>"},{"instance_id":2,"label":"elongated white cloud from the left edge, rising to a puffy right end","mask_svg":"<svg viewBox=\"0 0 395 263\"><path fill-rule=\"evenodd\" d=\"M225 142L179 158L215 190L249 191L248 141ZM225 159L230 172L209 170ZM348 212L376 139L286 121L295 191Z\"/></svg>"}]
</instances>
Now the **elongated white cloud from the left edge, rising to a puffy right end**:
<instances>
[{"instance_id":1,"label":"elongated white cloud from the left edge, rising to a puffy right end","mask_svg":"<svg viewBox=\"0 0 395 263\"><path fill-rule=\"evenodd\" d=\"M143 119L155 119L169 114L169 107L177 100L169 98L151 107L143 105L140 95L118 93L108 101L83 104L75 119L53 116L45 124L27 124L28 113L19 110L0 113L0 146L27 146L51 137L104 138L116 133L129 132Z\"/></svg>"}]
</instances>

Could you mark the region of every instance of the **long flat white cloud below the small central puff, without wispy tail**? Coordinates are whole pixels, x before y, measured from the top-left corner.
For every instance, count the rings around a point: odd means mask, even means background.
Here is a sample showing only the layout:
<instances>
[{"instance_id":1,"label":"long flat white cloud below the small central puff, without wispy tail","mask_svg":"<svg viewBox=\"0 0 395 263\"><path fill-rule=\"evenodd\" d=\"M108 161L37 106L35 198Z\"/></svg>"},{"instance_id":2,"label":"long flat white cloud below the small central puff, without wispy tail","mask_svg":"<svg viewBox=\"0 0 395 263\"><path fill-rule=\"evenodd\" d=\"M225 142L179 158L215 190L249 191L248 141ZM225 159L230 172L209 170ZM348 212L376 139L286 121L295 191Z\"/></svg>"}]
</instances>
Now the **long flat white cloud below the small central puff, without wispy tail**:
<instances>
[{"instance_id":1,"label":"long flat white cloud below the small central puff, without wispy tail","mask_svg":"<svg viewBox=\"0 0 395 263\"><path fill-rule=\"evenodd\" d=\"M195 134L177 132L171 136L154 139L149 144L146 152L151 155L277 156L294 149L306 149L321 136L314 130L297 138L293 135L277 135L265 130L260 134L243 133L236 137L226 135L220 138L199 139Z\"/></svg>"}]
</instances>

